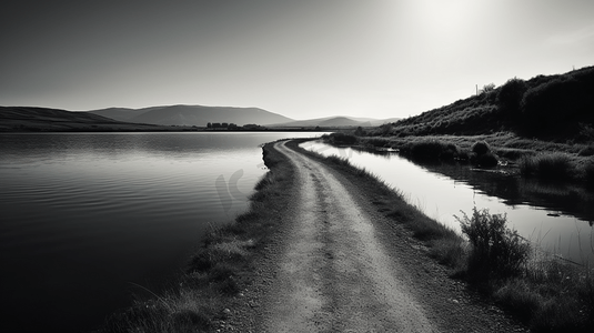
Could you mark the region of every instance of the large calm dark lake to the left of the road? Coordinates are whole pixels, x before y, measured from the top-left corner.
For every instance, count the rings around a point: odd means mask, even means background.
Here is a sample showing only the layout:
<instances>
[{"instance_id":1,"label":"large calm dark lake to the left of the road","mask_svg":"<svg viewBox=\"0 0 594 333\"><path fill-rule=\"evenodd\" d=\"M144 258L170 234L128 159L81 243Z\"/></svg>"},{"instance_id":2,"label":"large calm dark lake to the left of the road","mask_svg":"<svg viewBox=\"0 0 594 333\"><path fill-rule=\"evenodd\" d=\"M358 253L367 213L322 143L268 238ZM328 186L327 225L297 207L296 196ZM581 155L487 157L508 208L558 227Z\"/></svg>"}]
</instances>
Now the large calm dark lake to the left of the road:
<instances>
[{"instance_id":1,"label":"large calm dark lake to the left of the road","mask_svg":"<svg viewBox=\"0 0 594 333\"><path fill-rule=\"evenodd\" d=\"M0 134L0 331L89 330L159 290L246 209L261 143L314 135Z\"/></svg>"}]
</instances>

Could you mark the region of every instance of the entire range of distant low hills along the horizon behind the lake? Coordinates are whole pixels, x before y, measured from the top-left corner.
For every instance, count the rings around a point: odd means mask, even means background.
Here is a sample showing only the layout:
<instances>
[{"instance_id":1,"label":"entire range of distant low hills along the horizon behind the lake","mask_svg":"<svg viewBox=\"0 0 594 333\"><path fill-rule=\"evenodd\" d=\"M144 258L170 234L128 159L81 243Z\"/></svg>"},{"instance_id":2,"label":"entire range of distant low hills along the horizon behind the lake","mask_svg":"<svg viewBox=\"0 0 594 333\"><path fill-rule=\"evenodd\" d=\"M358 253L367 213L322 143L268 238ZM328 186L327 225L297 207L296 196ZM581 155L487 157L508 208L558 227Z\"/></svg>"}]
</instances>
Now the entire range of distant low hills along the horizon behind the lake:
<instances>
[{"instance_id":1,"label":"entire range of distant low hills along the horizon behind the lake","mask_svg":"<svg viewBox=\"0 0 594 333\"><path fill-rule=\"evenodd\" d=\"M143 109L109 108L93 111L30 107L0 107L0 131L171 130L170 125L203 128L210 123L259 124L269 128L356 128L395 119L326 117L292 120L258 108L169 105ZM160 128L159 128L160 127Z\"/></svg>"}]
</instances>

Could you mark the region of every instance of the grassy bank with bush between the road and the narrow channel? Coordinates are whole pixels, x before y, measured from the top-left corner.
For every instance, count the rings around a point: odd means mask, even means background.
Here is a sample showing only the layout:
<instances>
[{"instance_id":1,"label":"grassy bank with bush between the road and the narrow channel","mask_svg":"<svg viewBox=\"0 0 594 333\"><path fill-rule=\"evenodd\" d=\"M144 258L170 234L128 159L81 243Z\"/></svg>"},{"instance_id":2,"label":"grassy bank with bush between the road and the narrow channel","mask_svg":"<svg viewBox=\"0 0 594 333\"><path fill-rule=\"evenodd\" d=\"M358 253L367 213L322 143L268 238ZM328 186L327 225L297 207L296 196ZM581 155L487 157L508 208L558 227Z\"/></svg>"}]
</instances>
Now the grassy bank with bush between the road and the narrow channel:
<instances>
[{"instance_id":1,"label":"grassy bank with bush between the road and the narrow channel","mask_svg":"<svg viewBox=\"0 0 594 333\"><path fill-rule=\"evenodd\" d=\"M533 332L594 329L594 268L542 252L507 228L505 215L486 210L461 212L457 220L463 234L459 234L407 204L397 190L351 165L348 159L301 152L325 161L374 193L370 200L382 206L386 218L404 224L412 236L423 241L427 255L447 266L452 279L465 281Z\"/></svg>"}]
</instances>

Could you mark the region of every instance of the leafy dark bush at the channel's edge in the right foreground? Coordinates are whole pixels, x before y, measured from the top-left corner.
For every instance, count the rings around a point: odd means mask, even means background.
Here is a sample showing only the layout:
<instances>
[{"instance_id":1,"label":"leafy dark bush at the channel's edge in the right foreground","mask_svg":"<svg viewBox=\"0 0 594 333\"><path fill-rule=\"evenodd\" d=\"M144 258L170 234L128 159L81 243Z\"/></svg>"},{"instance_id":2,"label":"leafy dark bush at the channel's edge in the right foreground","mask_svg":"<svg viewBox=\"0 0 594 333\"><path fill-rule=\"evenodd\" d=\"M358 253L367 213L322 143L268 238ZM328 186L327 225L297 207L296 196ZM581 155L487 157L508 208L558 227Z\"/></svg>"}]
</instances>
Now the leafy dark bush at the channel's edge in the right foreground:
<instances>
[{"instance_id":1,"label":"leafy dark bush at the channel's edge in the right foreground","mask_svg":"<svg viewBox=\"0 0 594 333\"><path fill-rule=\"evenodd\" d=\"M473 209L471 218L455 216L462 232L469 238L469 273L489 280L491 276L516 275L530 254L530 244L515 230L506 228L506 216Z\"/></svg>"}]
</instances>

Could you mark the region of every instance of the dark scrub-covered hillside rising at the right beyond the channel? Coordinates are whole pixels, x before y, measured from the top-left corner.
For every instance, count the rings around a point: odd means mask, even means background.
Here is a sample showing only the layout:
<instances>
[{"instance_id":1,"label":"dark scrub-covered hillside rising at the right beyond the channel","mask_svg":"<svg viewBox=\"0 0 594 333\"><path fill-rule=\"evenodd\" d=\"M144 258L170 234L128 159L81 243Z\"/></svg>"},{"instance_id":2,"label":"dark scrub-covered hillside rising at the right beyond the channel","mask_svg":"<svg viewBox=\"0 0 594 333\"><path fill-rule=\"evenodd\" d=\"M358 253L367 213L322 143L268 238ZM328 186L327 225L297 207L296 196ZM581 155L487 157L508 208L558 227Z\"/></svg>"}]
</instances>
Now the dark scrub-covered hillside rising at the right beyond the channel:
<instances>
[{"instance_id":1,"label":"dark scrub-covered hillside rising at the right beyond the channel","mask_svg":"<svg viewBox=\"0 0 594 333\"><path fill-rule=\"evenodd\" d=\"M370 135L475 135L510 131L547 141L594 138L594 67L485 85L477 95L384 125Z\"/></svg>"}]
</instances>

